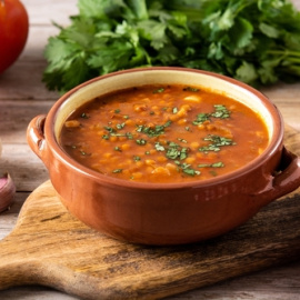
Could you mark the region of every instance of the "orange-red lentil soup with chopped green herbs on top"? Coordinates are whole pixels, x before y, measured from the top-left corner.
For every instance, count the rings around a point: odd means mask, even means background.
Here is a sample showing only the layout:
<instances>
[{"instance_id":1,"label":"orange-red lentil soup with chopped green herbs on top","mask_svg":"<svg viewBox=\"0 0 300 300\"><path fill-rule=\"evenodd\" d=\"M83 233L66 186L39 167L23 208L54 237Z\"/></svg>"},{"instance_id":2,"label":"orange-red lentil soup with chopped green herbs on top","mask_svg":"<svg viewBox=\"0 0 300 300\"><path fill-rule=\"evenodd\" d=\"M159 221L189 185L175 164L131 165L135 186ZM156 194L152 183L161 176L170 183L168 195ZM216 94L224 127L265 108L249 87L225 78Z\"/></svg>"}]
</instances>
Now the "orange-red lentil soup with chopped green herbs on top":
<instances>
[{"instance_id":1,"label":"orange-red lentil soup with chopped green herbs on top","mask_svg":"<svg viewBox=\"0 0 300 300\"><path fill-rule=\"evenodd\" d=\"M96 98L68 118L60 139L81 164L143 182L221 176L257 158L269 141L264 122L244 104L177 84Z\"/></svg>"}]
</instances>

